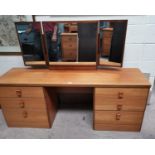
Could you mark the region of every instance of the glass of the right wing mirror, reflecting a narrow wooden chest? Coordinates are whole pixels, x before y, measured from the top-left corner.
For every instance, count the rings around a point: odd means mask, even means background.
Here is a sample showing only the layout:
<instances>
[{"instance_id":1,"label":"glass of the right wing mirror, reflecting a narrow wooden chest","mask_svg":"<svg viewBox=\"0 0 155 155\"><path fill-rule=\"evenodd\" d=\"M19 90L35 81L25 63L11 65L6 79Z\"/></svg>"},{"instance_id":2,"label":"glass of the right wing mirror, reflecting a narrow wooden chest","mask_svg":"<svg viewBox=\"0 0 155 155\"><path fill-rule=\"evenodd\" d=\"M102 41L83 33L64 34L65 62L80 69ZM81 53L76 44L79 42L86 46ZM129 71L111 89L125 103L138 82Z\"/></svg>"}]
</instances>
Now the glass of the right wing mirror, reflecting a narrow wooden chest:
<instances>
[{"instance_id":1,"label":"glass of the right wing mirror, reflecting a narrow wooden chest","mask_svg":"<svg viewBox=\"0 0 155 155\"><path fill-rule=\"evenodd\" d=\"M121 66L127 22L100 21L99 64Z\"/></svg>"}]
</instances>

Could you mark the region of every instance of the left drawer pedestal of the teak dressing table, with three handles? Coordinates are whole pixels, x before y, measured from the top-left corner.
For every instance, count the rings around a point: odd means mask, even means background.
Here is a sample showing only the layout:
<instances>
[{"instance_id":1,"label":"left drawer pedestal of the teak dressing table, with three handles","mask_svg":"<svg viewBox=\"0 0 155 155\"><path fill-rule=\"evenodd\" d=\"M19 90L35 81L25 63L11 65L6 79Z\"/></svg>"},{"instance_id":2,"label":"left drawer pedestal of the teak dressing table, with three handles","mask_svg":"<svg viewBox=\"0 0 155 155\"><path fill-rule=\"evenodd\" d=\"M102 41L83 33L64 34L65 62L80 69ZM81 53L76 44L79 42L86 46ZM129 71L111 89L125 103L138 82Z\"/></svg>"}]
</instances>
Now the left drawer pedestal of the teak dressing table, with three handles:
<instances>
[{"instance_id":1,"label":"left drawer pedestal of the teak dressing table, with three handles","mask_svg":"<svg viewBox=\"0 0 155 155\"><path fill-rule=\"evenodd\" d=\"M42 87L0 87L0 103L8 126L50 128L53 122L47 104L51 103L46 102L44 93Z\"/></svg>"}]
</instances>

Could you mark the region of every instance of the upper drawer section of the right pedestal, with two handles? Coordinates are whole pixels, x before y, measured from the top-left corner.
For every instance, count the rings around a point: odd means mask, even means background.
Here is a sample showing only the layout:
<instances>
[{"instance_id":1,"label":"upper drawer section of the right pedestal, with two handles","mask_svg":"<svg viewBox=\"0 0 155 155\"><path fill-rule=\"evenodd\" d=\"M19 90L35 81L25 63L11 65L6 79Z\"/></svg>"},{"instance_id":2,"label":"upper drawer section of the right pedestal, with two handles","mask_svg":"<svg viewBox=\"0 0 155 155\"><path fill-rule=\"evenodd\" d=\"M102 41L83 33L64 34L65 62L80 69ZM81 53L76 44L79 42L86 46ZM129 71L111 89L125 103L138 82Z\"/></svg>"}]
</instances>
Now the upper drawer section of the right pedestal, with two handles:
<instances>
[{"instance_id":1,"label":"upper drawer section of the right pedestal, with two handles","mask_svg":"<svg viewBox=\"0 0 155 155\"><path fill-rule=\"evenodd\" d=\"M147 88L95 88L95 110L144 111Z\"/></svg>"}]
</instances>

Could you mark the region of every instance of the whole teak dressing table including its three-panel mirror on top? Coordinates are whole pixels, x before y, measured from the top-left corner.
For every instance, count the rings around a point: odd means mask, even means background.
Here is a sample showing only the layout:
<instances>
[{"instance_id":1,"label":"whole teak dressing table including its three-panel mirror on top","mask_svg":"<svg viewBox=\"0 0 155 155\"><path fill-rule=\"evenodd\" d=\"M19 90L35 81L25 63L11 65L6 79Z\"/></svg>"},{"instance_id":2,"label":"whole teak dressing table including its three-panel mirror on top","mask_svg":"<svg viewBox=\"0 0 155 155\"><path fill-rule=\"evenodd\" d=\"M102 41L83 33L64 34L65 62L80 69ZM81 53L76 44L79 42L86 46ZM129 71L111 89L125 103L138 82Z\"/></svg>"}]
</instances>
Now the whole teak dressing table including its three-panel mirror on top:
<instances>
[{"instance_id":1,"label":"whole teak dressing table including its three-panel mirror on top","mask_svg":"<svg viewBox=\"0 0 155 155\"><path fill-rule=\"evenodd\" d=\"M50 128L60 94L74 92L91 98L81 102L93 103L95 130L140 131L150 84L139 69L121 68L126 28L126 20L16 23L24 64L31 68L0 77L8 126Z\"/></svg>"}]
</instances>

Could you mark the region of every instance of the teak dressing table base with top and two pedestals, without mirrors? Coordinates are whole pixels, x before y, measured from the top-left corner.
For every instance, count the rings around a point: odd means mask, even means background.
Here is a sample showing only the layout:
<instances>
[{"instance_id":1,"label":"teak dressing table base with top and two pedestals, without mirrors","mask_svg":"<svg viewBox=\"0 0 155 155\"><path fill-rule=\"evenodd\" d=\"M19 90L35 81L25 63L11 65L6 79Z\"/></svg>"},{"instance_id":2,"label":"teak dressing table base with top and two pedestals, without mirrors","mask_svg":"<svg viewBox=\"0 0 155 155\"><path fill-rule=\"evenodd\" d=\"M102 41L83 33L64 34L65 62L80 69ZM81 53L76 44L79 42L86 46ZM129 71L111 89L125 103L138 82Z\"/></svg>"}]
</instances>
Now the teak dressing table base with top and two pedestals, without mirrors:
<instances>
[{"instance_id":1,"label":"teak dressing table base with top and two pedestals, without mirrors","mask_svg":"<svg viewBox=\"0 0 155 155\"><path fill-rule=\"evenodd\" d=\"M135 68L14 68L0 78L0 103L10 127L51 127L58 88L91 88L96 130L141 129L150 84Z\"/></svg>"}]
</instances>

